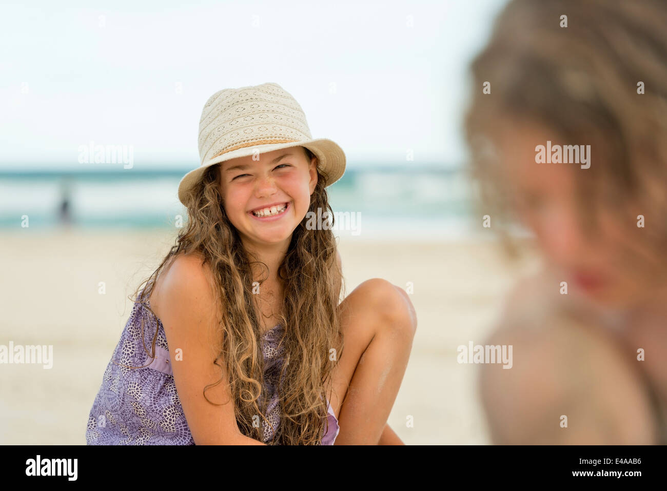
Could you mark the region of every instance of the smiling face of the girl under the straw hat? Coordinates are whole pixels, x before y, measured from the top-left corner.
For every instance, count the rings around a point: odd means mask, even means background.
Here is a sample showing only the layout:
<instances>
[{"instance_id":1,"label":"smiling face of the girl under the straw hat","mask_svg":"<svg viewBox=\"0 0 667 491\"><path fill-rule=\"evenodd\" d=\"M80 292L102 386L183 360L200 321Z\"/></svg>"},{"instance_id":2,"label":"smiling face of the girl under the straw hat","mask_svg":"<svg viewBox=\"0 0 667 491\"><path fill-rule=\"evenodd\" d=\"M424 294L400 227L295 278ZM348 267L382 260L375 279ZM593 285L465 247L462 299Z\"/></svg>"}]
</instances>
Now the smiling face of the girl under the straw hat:
<instances>
[{"instance_id":1,"label":"smiling face of the girl under the straw hat","mask_svg":"<svg viewBox=\"0 0 667 491\"><path fill-rule=\"evenodd\" d=\"M220 187L225 212L245 245L255 249L283 243L310 206L317 184L317 159L291 147L225 161Z\"/></svg>"}]
</instances>

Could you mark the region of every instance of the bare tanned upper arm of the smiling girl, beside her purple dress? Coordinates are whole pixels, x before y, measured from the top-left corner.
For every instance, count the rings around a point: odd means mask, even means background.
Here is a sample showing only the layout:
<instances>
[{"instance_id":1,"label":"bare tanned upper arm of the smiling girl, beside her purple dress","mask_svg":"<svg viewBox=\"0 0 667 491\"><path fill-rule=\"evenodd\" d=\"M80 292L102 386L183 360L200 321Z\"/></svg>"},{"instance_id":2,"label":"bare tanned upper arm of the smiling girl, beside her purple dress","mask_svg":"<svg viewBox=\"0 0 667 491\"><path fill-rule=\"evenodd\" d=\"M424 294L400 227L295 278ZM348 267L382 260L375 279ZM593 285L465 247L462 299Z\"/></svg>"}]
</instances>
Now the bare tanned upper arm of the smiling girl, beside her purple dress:
<instances>
[{"instance_id":1,"label":"bare tanned upper arm of the smiling girl, beside her purple dress","mask_svg":"<svg viewBox=\"0 0 667 491\"><path fill-rule=\"evenodd\" d=\"M217 304L209 284L211 272L193 256L179 256L155 291L153 310L162 321L176 390L197 445L263 445L239 431L226 372L213 364ZM178 350L178 352L177 352ZM177 353L179 356L177 356ZM182 359L181 359L182 358ZM219 360L224 366L224 360ZM206 390L204 387L222 381Z\"/></svg>"}]
</instances>

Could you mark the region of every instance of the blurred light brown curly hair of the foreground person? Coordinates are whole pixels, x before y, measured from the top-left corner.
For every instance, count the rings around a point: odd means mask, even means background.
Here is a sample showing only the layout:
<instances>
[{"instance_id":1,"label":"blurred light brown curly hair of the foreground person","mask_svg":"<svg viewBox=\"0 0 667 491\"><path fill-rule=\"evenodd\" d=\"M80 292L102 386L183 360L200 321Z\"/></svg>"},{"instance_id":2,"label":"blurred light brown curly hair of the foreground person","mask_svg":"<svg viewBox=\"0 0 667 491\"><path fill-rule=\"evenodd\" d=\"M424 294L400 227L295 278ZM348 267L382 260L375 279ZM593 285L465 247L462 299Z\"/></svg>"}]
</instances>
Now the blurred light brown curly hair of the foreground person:
<instances>
[{"instance_id":1,"label":"blurred light brown curly hair of the foreground person","mask_svg":"<svg viewBox=\"0 0 667 491\"><path fill-rule=\"evenodd\" d=\"M604 208L636 234L642 214L650 263L667 264L660 260L667 250L667 1L512 0L472 75L471 170L505 239L510 196L489 136L516 118L572 143L595 143L596 160L576 173L584 229L595 233L589 212ZM482 91L486 81L490 94Z\"/></svg>"}]
</instances>

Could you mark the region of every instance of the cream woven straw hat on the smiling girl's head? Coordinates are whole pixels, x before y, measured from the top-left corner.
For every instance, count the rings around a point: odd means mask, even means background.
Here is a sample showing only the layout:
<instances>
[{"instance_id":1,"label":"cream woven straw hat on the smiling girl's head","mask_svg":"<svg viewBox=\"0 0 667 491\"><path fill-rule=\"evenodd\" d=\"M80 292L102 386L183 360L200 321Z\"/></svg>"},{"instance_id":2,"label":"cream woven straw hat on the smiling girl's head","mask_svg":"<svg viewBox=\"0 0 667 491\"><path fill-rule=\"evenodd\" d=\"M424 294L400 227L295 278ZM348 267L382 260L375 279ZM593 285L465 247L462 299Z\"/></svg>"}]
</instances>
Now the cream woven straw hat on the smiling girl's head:
<instances>
[{"instance_id":1,"label":"cream woven straw hat on the smiling girl's head","mask_svg":"<svg viewBox=\"0 0 667 491\"><path fill-rule=\"evenodd\" d=\"M183 176L178 199L187 195L210 165L255 151L265 153L281 148L303 146L315 154L319 171L327 185L345 172L345 153L335 142L313 139L303 109L277 83L224 89L209 97L199 121L199 159L201 165Z\"/></svg>"}]
</instances>

